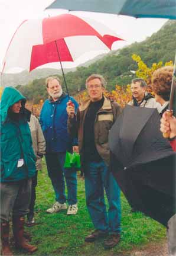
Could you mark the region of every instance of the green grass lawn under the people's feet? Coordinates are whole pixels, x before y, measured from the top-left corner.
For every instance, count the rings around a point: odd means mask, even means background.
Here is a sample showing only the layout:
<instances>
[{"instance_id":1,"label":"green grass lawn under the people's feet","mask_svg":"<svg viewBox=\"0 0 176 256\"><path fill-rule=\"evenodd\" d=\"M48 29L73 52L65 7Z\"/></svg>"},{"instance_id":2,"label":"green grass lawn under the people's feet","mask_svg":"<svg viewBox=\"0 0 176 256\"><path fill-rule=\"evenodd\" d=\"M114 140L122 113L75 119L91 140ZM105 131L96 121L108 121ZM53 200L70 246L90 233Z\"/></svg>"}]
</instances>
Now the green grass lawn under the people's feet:
<instances>
[{"instance_id":1,"label":"green grass lawn under the people's feet","mask_svg":"<svg viewBox=\"0 0 176 256\"><path fill-rule=\"evenodd\" d=\"M43 161L44 162L44 161ZM129 251L141 248L150 242L161 242L166 236L165 228L142 213L131 213L131 207L123 194L122 199L122 238L118 246L105 250L103 241L84 242L84 236L93 231L93 225L86 209L84 180L78 172L78 206L77 215L67 216L66 211L53 215L45 210L54 203L54 193L45 167L38 173L37 201L35 220L38 225L25 228L32 234L32 244L38 251L32 255L130 255ZM15 251L15 255L22 255Z\"/></svg>"}]
</instances>

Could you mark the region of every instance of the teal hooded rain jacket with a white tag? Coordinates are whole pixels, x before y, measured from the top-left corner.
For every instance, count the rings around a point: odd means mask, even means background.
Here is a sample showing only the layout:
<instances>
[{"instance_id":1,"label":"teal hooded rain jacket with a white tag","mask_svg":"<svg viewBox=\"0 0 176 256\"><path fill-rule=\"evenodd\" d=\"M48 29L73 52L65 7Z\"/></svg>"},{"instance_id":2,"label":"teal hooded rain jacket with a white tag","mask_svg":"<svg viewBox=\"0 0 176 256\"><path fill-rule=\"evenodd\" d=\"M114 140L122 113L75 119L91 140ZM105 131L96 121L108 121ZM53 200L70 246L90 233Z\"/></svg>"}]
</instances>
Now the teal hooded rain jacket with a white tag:
<instances>
[{"instance_id":1,"label":"teal hooded rain jacket with a white tag","mask_svg":"<svg viewBox=\"0 0 176 256\"><path fill-rule=\"evenodd\" d=\"M9 118L9 107L21 100L19 119ZM1 182L12 182L35 175L35 155L28 120L29 111L24 108L25 97L13 87L6 87L1 99ZM24 164L18 167L18 160Z\"/></svg>"}]
</instances>

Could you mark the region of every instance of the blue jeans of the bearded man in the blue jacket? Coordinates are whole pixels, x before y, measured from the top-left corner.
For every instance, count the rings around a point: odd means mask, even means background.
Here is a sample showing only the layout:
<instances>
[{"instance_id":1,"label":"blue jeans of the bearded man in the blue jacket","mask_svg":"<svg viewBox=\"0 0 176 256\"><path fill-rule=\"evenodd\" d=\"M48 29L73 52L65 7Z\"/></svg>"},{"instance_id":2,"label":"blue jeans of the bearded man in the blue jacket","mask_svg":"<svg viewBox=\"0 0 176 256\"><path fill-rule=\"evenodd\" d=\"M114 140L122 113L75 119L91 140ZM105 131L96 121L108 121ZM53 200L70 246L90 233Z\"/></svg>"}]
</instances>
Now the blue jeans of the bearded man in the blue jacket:
<instances>
[{"instance_id":1,"label":"blue jeans of the bearded man in the blue jacket","mask_svg":"<svg viewBox=\"0 0 176 256\"><path fill-rule=\"evenodd\" d=\"M56 201L66 203L65 182L67 184L67 201L69 205L77 203L77 174L74 168L64 168L66 152L46 153L48 176L56 194Z\"/></svg>"}]
</instances>

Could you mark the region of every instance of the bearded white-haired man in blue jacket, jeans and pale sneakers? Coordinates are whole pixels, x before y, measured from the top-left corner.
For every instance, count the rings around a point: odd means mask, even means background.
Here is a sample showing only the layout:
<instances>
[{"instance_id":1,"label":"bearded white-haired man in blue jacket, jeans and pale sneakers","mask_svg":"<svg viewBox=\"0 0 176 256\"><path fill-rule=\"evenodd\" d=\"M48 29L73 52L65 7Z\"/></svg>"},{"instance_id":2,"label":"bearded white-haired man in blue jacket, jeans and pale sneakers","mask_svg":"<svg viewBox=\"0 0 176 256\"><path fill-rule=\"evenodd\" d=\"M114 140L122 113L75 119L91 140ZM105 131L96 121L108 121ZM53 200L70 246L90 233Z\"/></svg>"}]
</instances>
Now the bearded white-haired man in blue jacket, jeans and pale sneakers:
<instances>
[{"instance_id":1,"label":"bearded white-haired man in blue jacket, jeans and pale sneakers","mask_svg":"<svg viewBox=\"0 0 176 256\"><path fill-rule=\"evenodd\" d=\"M67 184L67 201L69 208L67 215L77 213L77 175L75 168L64 168L66 151L77 151L77 140L71 140L67 133L67 102L69 99L78 107L77 102L65 94L61 88L61 81L55 76L46 79L45 84L49 98L45 100L40 114L40 123L46 141L45 159L48 176L56 195L56 203L47 209L47 213L57 213L66 210L65 183ZM72 148L73 147L73 148Z\"/></svg>"}]
</instances>

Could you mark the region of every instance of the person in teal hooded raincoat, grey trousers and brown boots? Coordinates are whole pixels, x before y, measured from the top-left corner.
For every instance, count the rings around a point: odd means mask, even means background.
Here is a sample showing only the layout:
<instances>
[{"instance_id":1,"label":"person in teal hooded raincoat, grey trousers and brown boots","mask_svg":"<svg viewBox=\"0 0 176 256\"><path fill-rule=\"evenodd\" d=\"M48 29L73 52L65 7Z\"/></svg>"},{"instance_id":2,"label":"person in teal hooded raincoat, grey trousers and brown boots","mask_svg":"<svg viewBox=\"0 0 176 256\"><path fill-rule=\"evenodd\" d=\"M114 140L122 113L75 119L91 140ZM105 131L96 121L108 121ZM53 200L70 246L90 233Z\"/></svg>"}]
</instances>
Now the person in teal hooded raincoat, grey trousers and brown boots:
<instances>
[{"instance_id":1,"label":"person in teal hooded raincoat, grey trousers and brown boots","mask_svg":"<svg viewBox=\"0 0 176 256\"><path fill-rule=\"evenodd\" d=\"M17 89L4 89L1 100L1 242L2 255L12 255L9 248L9 216L15 245L28 252L37 247L24 238L24 216L31 199L31 178L35 175L35 155L25 98Z\"/></svg>"}]
</instances>

